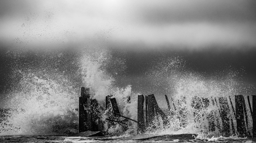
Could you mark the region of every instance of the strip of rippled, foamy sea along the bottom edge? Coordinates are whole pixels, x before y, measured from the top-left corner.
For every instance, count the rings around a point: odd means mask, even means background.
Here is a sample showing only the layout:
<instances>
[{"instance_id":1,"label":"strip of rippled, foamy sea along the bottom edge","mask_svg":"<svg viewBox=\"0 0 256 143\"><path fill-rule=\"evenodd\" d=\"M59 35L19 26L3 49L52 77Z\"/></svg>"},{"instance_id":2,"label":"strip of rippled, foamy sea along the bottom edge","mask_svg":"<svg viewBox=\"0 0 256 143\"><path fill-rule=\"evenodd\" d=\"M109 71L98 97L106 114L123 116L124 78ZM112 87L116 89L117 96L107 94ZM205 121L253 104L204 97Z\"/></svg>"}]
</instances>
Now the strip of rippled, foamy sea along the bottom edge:
<instances>
[{"instance_id":1,"label":"strip of rippled, foamy sea along the bottom edge","mask_svg":"<svg viewBox=\"0 0 256 143\"><path fill-rule=\"evenodd\" d=\"M135 138L135 137L134 137ZM253 143L256 142L255 139L247 139L247 138L227 138L227 137L218 137L218 138L210 138L210 139L166 139L158 138L158 139L126 139L119 137L70 137L70 136L1 136L0 142L3 143L87 143L87 142L95 142L95 143L170 143L170 142L223 142L223 143Z\"/></svg>"}]
</instances>

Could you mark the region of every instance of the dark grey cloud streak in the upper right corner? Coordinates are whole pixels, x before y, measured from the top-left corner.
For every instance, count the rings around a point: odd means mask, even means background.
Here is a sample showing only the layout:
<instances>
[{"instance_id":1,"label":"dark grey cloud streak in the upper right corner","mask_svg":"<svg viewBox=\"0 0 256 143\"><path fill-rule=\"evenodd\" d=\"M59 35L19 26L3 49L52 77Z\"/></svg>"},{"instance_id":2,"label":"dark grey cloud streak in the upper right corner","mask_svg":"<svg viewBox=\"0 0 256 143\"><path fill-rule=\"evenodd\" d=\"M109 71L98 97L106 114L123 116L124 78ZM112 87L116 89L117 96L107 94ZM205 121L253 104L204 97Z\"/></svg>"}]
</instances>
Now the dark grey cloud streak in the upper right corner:
<instances>
[{"instance_id":1,"label":"dark grey cloud streak in the upper right corner","mask_svg":"<svg viewBox=\"0 0 256 143\"><path fill-rule=\"evenodd\" d=\"M245 22L256 20L256 2L253 0L175 0L140 1L129 3L131 13L146 23L176 23L187 21Z\"/></svg>"}]
</instances>

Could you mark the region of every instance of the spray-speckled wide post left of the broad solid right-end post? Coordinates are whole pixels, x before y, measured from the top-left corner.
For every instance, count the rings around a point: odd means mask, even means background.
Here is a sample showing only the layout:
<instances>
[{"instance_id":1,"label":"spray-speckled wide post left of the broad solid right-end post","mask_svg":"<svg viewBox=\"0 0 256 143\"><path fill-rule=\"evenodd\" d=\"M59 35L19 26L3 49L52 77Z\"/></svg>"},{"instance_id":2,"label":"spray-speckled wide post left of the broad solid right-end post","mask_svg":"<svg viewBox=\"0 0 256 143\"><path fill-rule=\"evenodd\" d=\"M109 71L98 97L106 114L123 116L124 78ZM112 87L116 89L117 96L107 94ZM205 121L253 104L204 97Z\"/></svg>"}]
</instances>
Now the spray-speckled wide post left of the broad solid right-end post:
<instances>
[{"instance_id":1,"label":"spray-speckled wide post left of the broad solid right-end post","mask_svg":"<svg viewBox=\"0 0 256 143\"><path fill-rule=\"evenodd\" d=\"M227 103L227 99L225 97L220 97L219 98L219 107L220 107L220 117L222 120L222 130L223 133L225 133L225 135L230 134L230 126L229 126L229 118L228 118L228 114L230 112L229 107L228 107L228 103Z\"/></svg>"}]
</instances>

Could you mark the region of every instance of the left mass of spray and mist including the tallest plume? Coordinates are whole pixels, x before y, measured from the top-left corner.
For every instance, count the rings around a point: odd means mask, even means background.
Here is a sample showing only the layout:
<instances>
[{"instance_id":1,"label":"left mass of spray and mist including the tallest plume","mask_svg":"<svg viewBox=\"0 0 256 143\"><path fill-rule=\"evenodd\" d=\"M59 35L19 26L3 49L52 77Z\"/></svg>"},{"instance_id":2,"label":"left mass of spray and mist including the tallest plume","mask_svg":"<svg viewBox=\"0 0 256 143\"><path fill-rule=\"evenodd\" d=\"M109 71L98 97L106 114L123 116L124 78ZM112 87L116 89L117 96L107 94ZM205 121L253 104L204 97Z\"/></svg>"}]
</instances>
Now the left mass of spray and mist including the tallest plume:
<instances>
[{"instance_id":1,"label":"left mass of spray and mist including the tallest plume","mask_svg":"<svg viewBox=\"0 0 256 143\"><path fill-rule=\"evenodd\" d=\"M107 52L78 54L79 58L71 61L74 67L68 69L61 67L70 66L69 62L64 64L61 62L60 59L65 55L62 52L57 53L56 56L55 53L37 54L37 52L21 51L11 51L8 54L13 60L11 64L13 87L6 97L5 108L15 110L10 110L7 118L1 122L1 135L64 135L78 132L78 111L75 109L78 108L81 86L90 87L91 97L102 104L106 95L115 92L117 97L124 92L123 88L113 87L114 79L106 70L111 67L109 64L112 61L117 65L122 65L124 61L114 59ZM36 58L27 61L26 59L30 58L27 56L31 55ZM51 58L47 59L49 57ZM40 60L43 62L39 62ZM74 62L79 63L79 68L72 74L75 79L70 79L66 73L69 73L68 70L77 69L78 64L73 64ZM115 68L114 74L116 74L124 67L112 66L111 69ZM81 84L78 83L79 79L76 79L78 76L81 78ZM119 97L123 95L127 97L131 93L131 86L125 91ZM121 98L118 98L118 103L123 104L119 99ZM124 107L120 108L123 109ZM128 109L124 109L124 112L128 114Z\"/></svg>"}]
</instances>

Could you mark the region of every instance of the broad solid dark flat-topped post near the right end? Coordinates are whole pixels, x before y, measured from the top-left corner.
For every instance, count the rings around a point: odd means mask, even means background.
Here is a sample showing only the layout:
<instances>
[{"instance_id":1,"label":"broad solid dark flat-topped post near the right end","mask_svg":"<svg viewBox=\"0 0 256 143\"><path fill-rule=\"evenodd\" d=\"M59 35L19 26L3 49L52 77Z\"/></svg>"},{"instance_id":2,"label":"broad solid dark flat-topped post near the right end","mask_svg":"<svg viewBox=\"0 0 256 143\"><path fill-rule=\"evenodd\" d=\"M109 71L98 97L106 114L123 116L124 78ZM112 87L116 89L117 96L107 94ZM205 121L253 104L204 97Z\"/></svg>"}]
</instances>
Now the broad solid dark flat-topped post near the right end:
<instances>
[{"instance_id":1,"label":"broad solid dark flat-topped post near the right end","mask_svg":"<svg viewBox=\"0 0 256 143\"><path fill-rule=\"evenodd\" d=\"M243 96L235 95L236 128L238 135L243 136L246 133L243 114Z\"/></svg>"}]
</instances>

